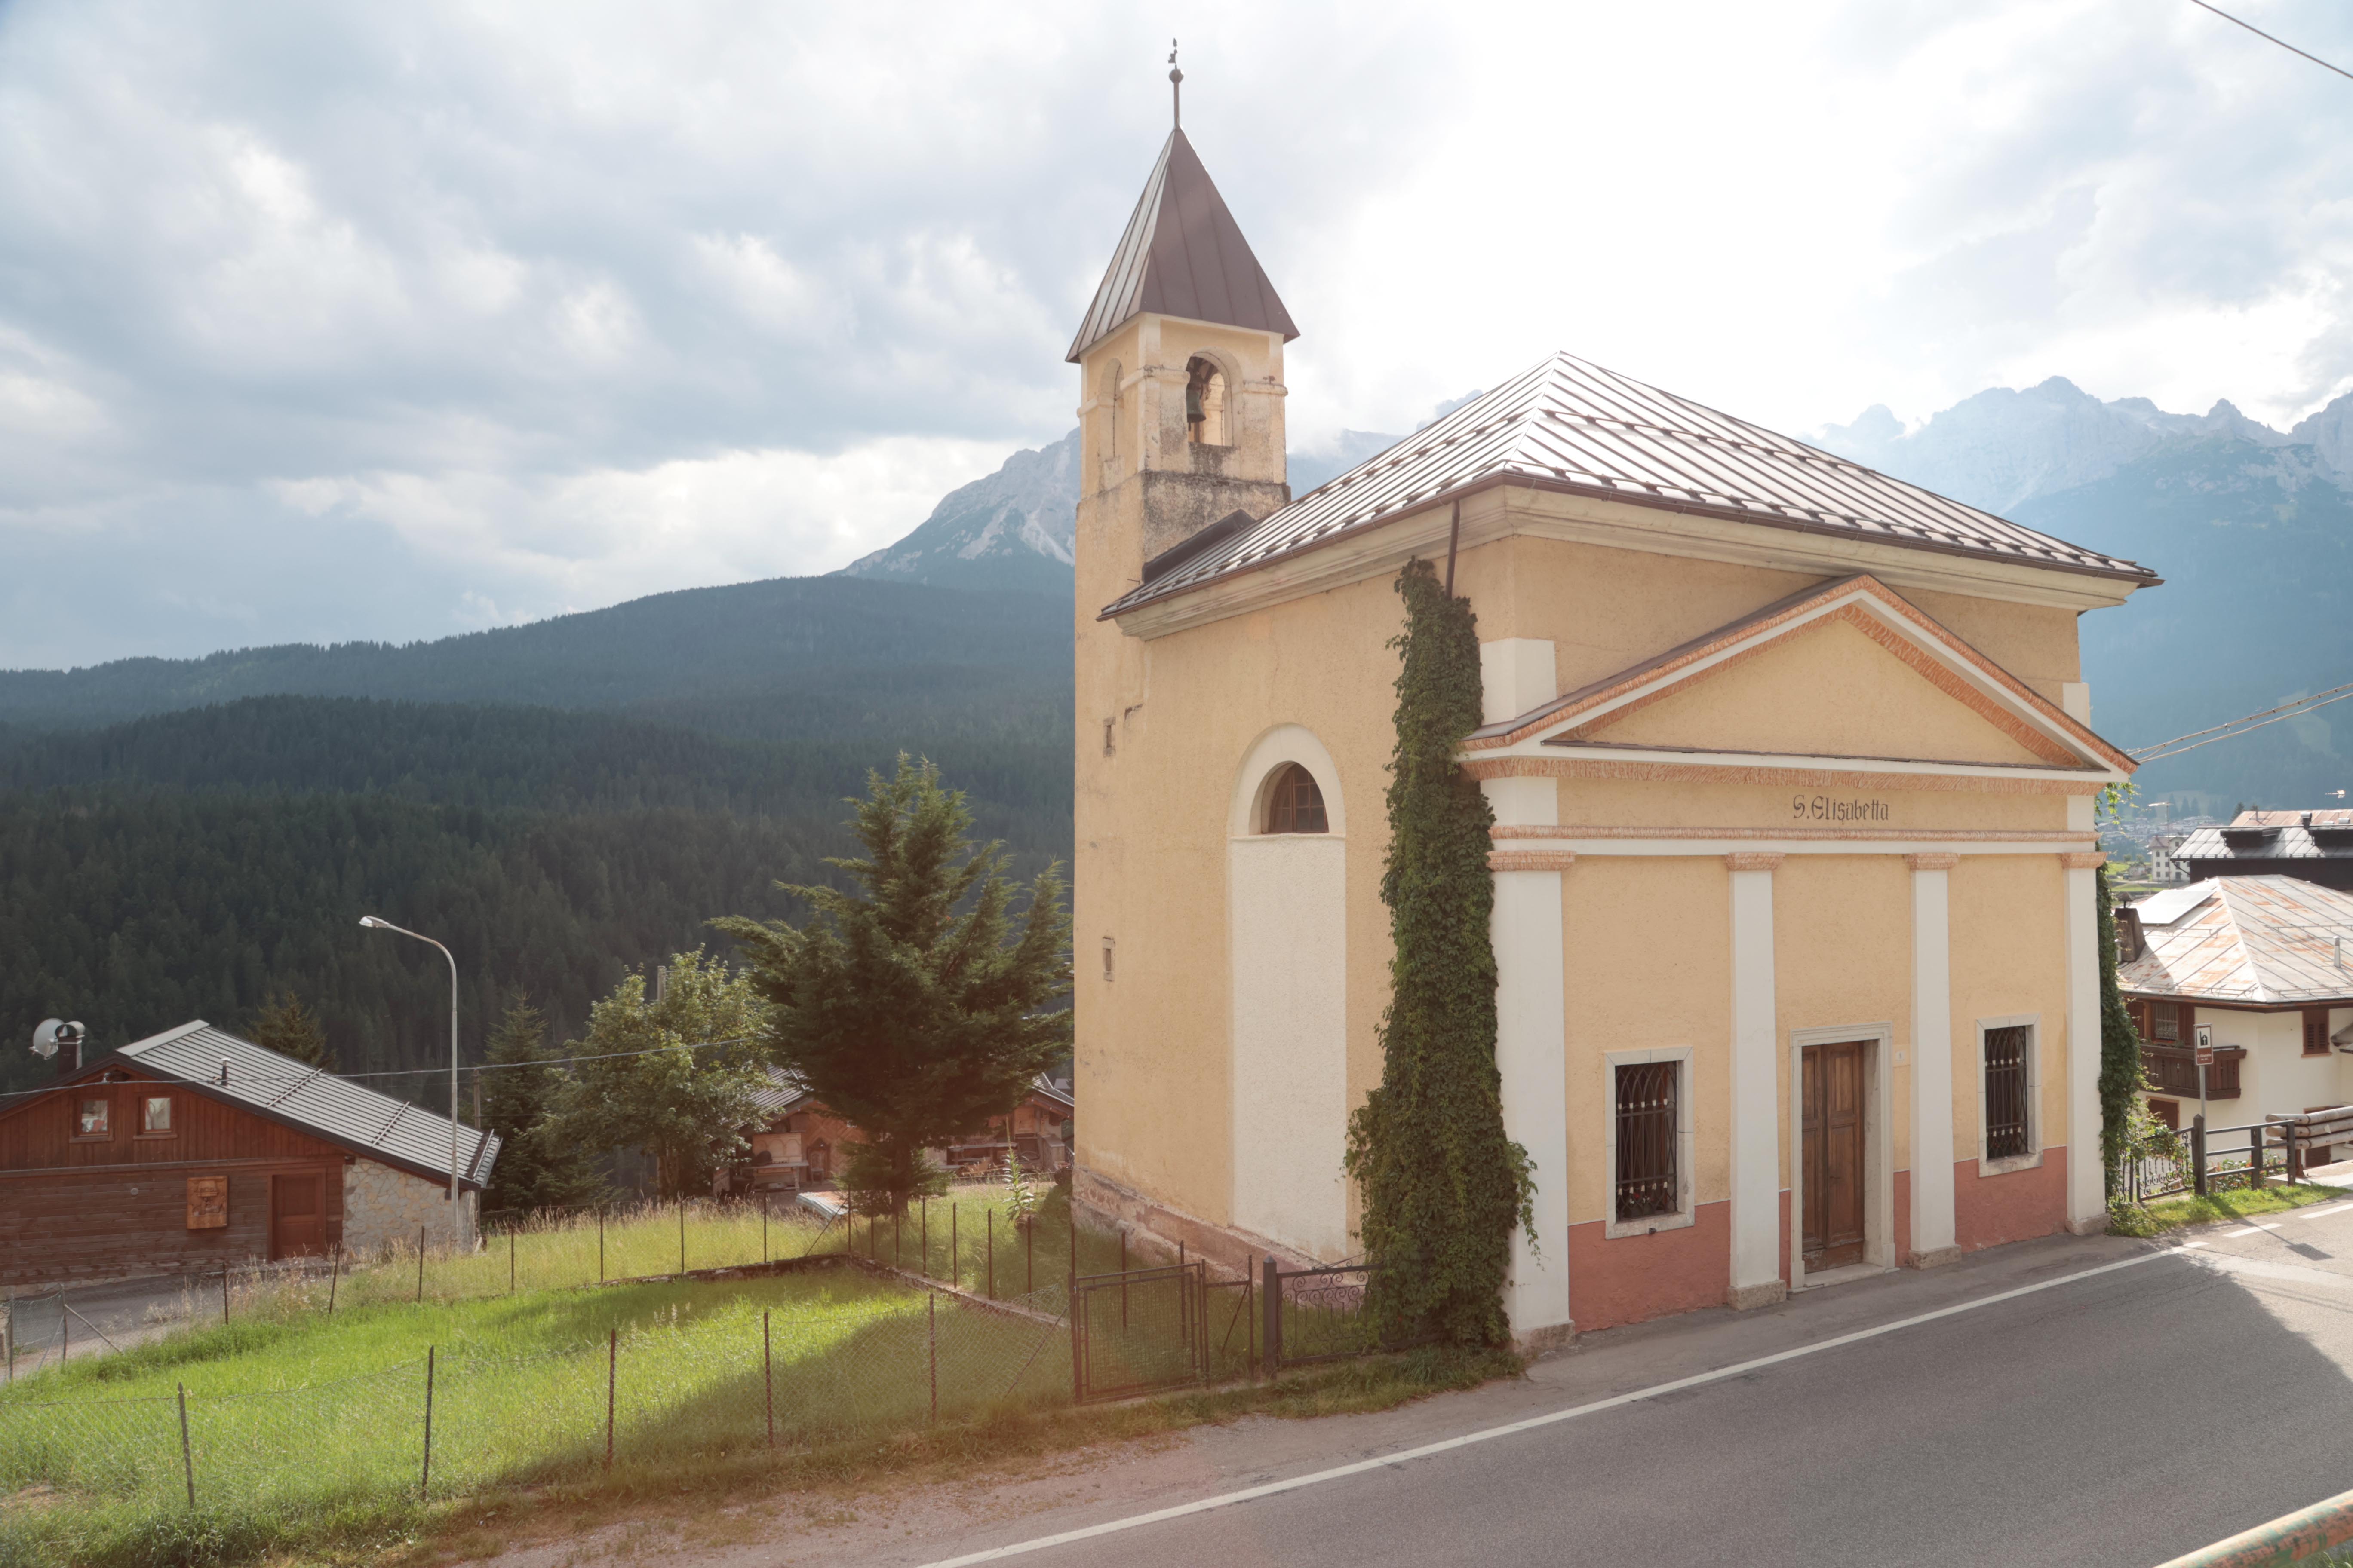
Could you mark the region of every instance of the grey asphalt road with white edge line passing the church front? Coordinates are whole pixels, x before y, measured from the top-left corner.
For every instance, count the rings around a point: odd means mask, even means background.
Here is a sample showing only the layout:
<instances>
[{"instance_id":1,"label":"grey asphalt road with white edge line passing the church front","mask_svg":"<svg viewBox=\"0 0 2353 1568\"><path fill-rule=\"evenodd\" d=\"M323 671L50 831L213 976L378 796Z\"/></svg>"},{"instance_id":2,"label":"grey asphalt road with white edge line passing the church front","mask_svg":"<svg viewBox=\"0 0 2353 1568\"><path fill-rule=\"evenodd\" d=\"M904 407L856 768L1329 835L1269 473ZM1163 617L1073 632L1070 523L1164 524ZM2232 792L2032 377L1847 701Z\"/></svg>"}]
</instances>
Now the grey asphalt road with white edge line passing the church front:
<instances>
[{"instance_id":1,"label":"grey asphalt road with white edge line passing the church front","mask_svg":"<svg viewBox=\"0 0 2353 1568\"><path fill-rule=\"evenodd\" d=\"M1962 1309L1906 1324L1946 1307ZM1887 1324L1906 1326L1866 1333ZM1024 1549L1793 1349L1402 1465ZM976 1528L934 1519L868 1561L1014 1547L995 1561L2146 1568L2353 1488L2348 1432L2353 1204L2329 1204L2188 1248L2054 1239L1588 1335L1520 1385L1386 1418L1209 1429L1099 1500Z\"/></svg>"}]
</instances>

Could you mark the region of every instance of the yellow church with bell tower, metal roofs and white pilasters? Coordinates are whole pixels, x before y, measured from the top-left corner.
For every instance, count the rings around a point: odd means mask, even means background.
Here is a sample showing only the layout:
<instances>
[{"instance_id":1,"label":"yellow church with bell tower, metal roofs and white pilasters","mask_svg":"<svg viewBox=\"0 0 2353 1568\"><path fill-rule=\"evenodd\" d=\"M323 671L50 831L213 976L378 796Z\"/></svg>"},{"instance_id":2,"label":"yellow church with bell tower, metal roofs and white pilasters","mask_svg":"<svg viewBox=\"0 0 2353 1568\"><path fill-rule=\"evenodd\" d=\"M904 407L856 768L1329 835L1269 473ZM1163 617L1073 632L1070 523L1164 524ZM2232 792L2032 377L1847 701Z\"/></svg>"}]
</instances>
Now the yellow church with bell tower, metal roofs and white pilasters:
<instances>
[{"instance_id":1,"label":"yellow church with bell tower, metal roofs and white pilasters","mask_svg":"<svg viewBox=\"0 0 2353 1568\"><path fill-rule=\"evenodd\" d=\"M1184 132L1080 371L1078 1194L1341 1260L1398 571L1478 616L1522 1345L2106 1222L2075 623L2158 576L1565 353L1306 496Z\"/></svg>"}]
</instances>

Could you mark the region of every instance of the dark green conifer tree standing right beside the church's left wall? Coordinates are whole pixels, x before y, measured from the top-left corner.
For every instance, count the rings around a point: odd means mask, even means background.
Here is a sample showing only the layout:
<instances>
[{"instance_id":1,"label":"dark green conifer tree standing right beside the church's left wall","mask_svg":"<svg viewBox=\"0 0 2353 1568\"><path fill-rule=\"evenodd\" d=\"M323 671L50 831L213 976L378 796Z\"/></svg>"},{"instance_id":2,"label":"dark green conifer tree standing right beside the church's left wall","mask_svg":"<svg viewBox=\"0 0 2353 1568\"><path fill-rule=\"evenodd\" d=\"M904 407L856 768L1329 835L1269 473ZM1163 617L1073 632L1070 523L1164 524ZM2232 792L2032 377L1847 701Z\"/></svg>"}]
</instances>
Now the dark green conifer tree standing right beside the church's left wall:
<instances>
[{"instance_id":1,"label":"dark green conifer tree standing right beside the church's left wall","mask_svg":"<svg viewBox=\"0 0 2353 1568\"><path fill-rule=\"evenodd\" d=\"M1049 865L1014 912L998 844L974 846L960 790L929 762L868 776L849 830L864 860L828 860L854 891L788 886L802 926L718 919L769 1001L774 1060L871 1140L852 1164L878 1206L929 1185L922 1150L1007 1114L1071 1048L1071 917Z\"/></svg>"}]
</instances>

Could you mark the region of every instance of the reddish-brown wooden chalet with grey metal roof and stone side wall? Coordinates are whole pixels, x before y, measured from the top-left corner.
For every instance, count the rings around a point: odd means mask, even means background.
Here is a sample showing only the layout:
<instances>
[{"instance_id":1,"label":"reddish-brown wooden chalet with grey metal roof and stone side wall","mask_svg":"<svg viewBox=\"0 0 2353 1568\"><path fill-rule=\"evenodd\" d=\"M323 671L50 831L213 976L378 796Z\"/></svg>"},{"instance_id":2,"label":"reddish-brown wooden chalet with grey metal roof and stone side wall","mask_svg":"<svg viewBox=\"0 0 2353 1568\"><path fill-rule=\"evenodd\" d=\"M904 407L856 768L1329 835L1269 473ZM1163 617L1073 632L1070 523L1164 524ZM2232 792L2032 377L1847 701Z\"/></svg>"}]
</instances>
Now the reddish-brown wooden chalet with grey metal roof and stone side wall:
<instances>
[{"instance_id":1,"label":"reddish-brown wooden chalet with grey metal roof and stone side wall","mask_svg":"<svg viewBox=\"0 0 2353 1568\"><path fill-rule=\"evenodd\" d=\"M475 1246L499 1138L209 1023L75 1060L0 1110L0 1281Z\"/></svg>"}]
</instances>

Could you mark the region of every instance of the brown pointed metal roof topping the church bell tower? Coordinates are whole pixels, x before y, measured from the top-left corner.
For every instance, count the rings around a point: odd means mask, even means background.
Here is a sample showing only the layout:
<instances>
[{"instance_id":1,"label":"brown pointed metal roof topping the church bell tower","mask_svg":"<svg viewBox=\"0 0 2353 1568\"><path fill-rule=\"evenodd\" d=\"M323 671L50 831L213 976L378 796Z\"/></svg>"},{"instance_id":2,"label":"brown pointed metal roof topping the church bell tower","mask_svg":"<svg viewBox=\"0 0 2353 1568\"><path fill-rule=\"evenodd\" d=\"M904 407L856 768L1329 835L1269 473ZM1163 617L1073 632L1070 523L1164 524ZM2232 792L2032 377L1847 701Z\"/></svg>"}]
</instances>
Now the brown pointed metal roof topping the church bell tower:
<instances>
[{"instance_id":1,"label":"brown pointed metal roof topping the church bell tower","mask_svg":"<svg viewBox=\"0 0 2353 1568\"><path fill-rule=\"evenodd\" d=\"M1221 322L1254 331L1299 336L1292 313L1266 280L1242 226L1226 209L1217 181L1184 132L1169 132L1144 181L1144 197L1127 219L1120 249L1094 289L1094 303L1071 339L1071 364L1118 331L1129 317L1153 310L1195 322Z\"/></svg>"}]
</instances>

